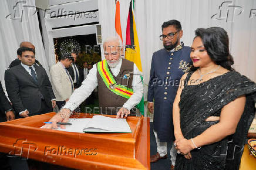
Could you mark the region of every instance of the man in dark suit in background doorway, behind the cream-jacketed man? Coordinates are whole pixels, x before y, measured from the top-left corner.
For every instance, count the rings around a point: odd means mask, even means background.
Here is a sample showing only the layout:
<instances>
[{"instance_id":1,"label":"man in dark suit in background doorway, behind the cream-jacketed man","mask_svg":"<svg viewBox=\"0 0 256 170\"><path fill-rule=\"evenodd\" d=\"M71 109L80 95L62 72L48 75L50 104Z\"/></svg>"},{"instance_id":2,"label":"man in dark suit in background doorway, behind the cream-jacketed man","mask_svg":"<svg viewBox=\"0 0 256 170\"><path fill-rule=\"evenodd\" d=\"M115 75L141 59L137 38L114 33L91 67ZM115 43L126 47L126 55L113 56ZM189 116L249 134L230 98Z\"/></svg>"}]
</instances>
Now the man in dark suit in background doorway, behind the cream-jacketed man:
<instances>
[{"instance_id":1,"label":"man in dark suit in background doorway, behind the cream-jacketed man","mask_svg":"<svg viewBox=\"0 0 256 170\"><path fill-rule=\"evenodd\" d=\"M74 88L78 89L78 87L80 87L83 82L83 70L80 69L78 64L76 64L76 57L78 55L76 53L71 53L71 55L73 57L73 63L68 68L68 71L74 82Z\"/></svg>"}]
</instances>

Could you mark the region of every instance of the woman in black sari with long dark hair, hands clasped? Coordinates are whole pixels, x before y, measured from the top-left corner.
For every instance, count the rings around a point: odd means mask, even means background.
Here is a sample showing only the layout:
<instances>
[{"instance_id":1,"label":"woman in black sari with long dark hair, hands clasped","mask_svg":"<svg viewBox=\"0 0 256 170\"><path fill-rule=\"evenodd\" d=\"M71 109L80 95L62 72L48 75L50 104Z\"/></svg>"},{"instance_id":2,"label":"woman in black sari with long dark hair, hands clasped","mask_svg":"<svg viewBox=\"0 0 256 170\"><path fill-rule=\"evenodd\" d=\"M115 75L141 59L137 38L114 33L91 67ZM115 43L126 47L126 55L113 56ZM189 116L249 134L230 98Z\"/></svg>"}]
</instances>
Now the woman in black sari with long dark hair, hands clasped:
<instances>
[{"instance_id":1,"label":"woman in black sari with long dark hair, hands clasped","mask_svg":"<svg viewBox=\"0 0 256 170\"><path fill-rule=\"evenodd\" d=\"M175 169L239 169L256 85L231 67L222 28L197 29L190 56L173 104Z\"/></svg>"}]
</instances>

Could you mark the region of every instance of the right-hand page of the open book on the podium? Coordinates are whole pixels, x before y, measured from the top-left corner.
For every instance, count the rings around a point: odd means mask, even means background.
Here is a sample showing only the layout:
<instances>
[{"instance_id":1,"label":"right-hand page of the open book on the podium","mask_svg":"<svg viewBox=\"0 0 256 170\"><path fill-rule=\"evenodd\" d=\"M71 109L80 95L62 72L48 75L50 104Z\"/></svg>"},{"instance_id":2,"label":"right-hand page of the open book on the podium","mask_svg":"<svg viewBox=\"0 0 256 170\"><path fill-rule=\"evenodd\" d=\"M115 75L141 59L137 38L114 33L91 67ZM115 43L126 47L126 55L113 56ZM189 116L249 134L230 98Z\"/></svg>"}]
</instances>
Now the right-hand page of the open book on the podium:
<instances>
[{"instance_id":1,"label":"right-hand page of the open book on the podium","mask_svg":"<svg viewBox=\"0 0 256 170\"><path fill-rule=\"evenodd\" d=\"M110 118L103 115L95 115L85 128L84 132L126 132L131 133L129 124L125 118Z\"/></svg>"}]
</instances>

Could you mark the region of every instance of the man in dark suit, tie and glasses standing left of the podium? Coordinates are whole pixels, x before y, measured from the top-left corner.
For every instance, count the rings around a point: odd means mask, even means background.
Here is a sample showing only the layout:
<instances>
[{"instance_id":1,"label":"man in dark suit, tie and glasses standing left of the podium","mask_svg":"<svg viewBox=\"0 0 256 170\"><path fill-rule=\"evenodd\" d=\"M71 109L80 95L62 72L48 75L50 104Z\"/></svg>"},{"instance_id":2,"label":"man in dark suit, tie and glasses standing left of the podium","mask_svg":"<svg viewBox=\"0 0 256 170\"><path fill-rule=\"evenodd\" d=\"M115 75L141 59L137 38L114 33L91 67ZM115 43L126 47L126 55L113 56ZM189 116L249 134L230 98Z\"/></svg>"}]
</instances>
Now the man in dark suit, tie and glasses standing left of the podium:
<instances>
[{"instance_id":1,"label":"man in dark suit, tie and glasses standing left of the podium","mask_svg":"<svg viewBox=\"0 0 256 170\"><path fill-rule=\"evenodd\" d=\"M6 91L20 117L52 112L56 106L52 85L43 67L35 65L35 50L17 50L21 64L5 71Z\"/></svg>"}]
</instances>

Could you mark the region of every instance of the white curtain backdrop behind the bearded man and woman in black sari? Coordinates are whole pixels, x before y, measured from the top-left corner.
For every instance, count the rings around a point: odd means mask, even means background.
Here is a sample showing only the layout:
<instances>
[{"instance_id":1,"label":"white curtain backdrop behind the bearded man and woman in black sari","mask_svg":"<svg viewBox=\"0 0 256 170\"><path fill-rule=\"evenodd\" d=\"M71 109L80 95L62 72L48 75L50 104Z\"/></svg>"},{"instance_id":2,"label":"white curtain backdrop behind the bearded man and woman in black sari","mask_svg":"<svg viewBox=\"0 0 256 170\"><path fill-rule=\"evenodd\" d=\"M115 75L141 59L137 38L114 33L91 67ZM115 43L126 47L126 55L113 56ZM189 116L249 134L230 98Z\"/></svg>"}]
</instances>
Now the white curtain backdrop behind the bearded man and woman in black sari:
<instances>
[{"instance_id":1,"label":"white curtain backdrop behind the bearded man and woman in black sari","mask_svg":"<svg viewBox=\"0 0 256 170\"><path fill-rule=\"evenodd\" d=\"M223 5L221 5L224 2ZM120 0L120 21L123 43L126 40L126 23L130 0ZM99 19L102 25L102 38L114 33L114 0L99 0ZM220 9L221 15L220 15ZM255 0L135 0L135 21L140 44L140 57L144 74L144 84L149 82L150 64L153 52L163 48L159 39L164 21L177 19L183 28L184 45L191 46L194 30L219 26L228 32L230 50L235 69L256 81L256 15L250 18L251 9L256 9ZM227 16L225 19L224 16ZM242 12L241 12L242 11ZM240 13L241 12L241 13ZM217 13L215 18L212 16ZM240 14L239 14L240 13ZM256 10L254 10L256 13ZM102 48L103 49L103 48ZM144 91L147 91L145 86ZM146 99L146 95L145 99Z\"/></svg>"}]
</instances>

